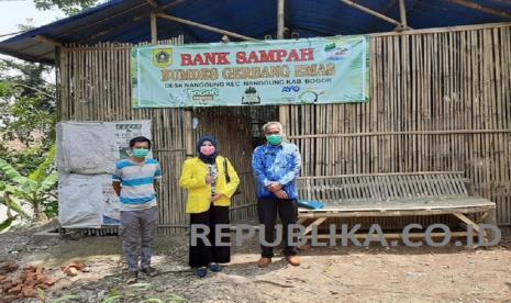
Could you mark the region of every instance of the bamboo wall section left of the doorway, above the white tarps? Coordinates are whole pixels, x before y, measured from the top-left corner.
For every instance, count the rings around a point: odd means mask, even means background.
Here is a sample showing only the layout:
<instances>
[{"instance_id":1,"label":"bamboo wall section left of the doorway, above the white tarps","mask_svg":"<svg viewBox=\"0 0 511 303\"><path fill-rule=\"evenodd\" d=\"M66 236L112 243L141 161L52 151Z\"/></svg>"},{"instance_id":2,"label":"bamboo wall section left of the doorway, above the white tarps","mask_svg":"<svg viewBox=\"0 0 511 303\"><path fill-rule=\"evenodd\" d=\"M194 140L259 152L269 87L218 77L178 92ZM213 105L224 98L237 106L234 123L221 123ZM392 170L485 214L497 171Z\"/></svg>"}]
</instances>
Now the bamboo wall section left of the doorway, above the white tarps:
<instances>
[{"instance_id":1,"label":"bamboo wall section left of the doorway, above the white tarps","mask_svg":"<svg viewBox=\"0 0 511 303\"><path fill-rule=\"evenodd\" d=\"M182 44L182 38L162 42ZM131 45L99 44L59 50L60 121L153 121L154 156L164 177L158 187L159 229L171 233L186 226L185 193L178 187L185 155L185 113L179 109L131 108Z\"/></svg>"}]
</instances>

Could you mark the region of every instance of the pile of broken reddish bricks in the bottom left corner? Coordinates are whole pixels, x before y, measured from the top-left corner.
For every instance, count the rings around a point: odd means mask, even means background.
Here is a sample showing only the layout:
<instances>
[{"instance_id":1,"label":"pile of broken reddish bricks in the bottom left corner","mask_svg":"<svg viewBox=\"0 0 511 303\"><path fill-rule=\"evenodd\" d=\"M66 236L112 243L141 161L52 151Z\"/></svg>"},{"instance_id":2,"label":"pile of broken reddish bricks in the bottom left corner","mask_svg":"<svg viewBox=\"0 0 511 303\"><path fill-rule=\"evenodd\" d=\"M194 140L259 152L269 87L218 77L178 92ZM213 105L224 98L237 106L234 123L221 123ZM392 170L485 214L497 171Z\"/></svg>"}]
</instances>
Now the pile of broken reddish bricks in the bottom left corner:
<instances>
[{"instance_id":1,"label":"pile of broken reddish bricks in the bottom left corner","mask_svg":"<svg viewBox=\"0 0 511 303\"><path fill-rule=\"evenodd\" d=\"M43 267L27 266L23 268L18 277L9 277L18 270L15 261L9 261L0 266L0 285L1 295L0 302L10 302L22 298L36 296L36 288L47 289L55 284L55 280L44 273ZM13 276L13 274L12 274Z\"/></svg>"}]
</instances>

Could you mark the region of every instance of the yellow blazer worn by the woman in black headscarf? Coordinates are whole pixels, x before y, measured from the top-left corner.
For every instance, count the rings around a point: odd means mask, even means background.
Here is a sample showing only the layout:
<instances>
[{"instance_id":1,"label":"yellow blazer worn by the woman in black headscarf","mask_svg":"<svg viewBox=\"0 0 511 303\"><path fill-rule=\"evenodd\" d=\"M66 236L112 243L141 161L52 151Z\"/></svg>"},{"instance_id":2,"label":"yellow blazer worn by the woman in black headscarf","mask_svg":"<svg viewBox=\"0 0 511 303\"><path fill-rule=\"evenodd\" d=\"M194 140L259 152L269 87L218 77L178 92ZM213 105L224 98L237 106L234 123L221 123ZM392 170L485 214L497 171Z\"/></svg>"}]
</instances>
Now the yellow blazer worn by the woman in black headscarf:
<instances>
[{"instance_id":1,"label":"yellow blazer worn by the woman in black headscarf","mask_svg":"<svg viewBox=\"0 0 511 303\"><path fill-rule=\"evenodd\" d=\"M216 167L219 176L216 177L216 193L223 193L225 197L216 200L215 206L230 206L231 197L240 184L240 178L236 170L227 159L227 171L231 182L225 180L224 157L216 157ZM205 176L209 173L208 166L198 157L187 159L182 166L179 186L188 190L187 213L202 213L210 209L211 204L211 186L205 182Z\"/></svg>"}]
</instances>

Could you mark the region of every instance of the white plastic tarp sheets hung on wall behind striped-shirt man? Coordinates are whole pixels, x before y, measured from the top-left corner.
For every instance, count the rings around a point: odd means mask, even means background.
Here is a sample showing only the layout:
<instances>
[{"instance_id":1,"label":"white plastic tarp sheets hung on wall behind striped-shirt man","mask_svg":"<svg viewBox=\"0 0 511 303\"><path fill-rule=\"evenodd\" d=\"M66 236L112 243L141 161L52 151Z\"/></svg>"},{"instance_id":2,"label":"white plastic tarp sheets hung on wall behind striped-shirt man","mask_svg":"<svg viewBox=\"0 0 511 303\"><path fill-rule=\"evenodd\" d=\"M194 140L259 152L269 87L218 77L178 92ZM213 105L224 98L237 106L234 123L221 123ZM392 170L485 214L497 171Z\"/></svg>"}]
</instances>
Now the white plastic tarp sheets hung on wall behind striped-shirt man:
<instances>
[{"instance_id":1,"label":"white plastic tarp sheets hung on wall behind striped-shirt man","mask_svg":"<svg viewBox=\"0 0 511 303\"><path fill-rule=\"evenodd\" d=\"M119 224L120 202L111 173L118 160L129 157L131 138L151 138L151 126L149 120L58 123L58 217L63 227Z\"/></svg>"}]
</instances>

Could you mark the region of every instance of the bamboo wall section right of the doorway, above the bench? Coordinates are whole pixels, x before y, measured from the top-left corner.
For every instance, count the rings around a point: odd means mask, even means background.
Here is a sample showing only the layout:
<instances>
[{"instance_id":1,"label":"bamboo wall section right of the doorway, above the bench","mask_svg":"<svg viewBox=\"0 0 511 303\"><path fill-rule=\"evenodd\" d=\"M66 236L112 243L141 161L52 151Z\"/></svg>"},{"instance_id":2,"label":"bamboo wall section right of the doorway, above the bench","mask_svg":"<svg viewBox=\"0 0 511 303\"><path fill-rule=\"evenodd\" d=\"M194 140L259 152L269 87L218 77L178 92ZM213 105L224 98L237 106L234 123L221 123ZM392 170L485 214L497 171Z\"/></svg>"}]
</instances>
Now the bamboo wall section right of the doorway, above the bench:
<instances>
[{"instance_id":1,"label":"bamboo wall section right of the doorway, above the bench","mask_svg":"<svg viewBox=\"0 0 511 303\"><path fill-rule=\"evenodd\" d=\"M370 101L280 109L303 176L465 171L511 224L511 25L371 36Z\"/></svg>"}]
</instances>

